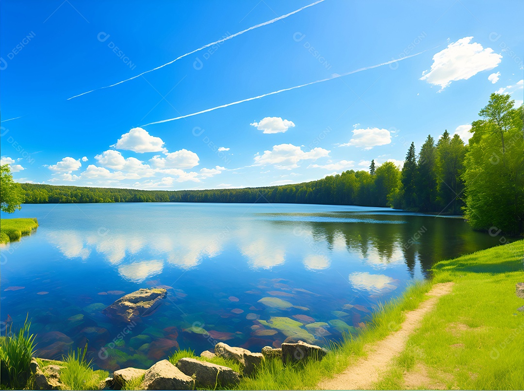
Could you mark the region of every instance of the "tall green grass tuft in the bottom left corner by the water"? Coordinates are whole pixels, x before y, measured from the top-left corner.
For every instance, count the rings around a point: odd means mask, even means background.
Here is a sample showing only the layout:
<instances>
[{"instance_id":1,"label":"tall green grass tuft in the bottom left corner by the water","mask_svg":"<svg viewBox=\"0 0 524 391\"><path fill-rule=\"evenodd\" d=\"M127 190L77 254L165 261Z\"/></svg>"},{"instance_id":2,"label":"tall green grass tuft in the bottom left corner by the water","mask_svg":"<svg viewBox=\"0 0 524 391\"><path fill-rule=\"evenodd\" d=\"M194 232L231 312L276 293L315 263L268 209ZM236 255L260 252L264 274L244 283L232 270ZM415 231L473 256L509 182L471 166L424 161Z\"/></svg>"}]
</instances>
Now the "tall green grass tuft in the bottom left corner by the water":
<instances>
[{"instance_id":1,"label":"tall green grass tuft in the bottom left corner by the water","mask_svg":"<svg viewBox=\"0 0 524 391\"><path fill-rule=\"evenodd\" d=\"M29 333L31 322L26 317L24 326L17 333L9 333L0 340L0 383L22 389L29 379L29 363L35 351L35 336Z\"/></svg>"}]
</instances>

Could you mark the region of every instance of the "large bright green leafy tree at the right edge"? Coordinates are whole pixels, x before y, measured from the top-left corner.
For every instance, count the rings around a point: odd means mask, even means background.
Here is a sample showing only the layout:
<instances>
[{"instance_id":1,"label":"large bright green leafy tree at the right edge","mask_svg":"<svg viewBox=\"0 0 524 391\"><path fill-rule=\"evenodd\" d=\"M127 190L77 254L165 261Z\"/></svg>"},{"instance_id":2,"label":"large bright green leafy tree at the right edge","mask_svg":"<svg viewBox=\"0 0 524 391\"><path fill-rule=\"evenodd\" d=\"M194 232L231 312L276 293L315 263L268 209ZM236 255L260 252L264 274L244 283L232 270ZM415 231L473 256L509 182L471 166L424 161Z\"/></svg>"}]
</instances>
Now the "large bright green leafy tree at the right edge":
<instances>
[{"instance_id":1,"label":"large bright green leafy tree at the right edge","mask_svg":"<svg viewBox=\"0 0 524 391\"><path fill-rule=\"evenodd\" d=\"M492 94L474 121L465 158L465 215L475 229L524 231L523 106Z\"/></svg>"}]
</instances>

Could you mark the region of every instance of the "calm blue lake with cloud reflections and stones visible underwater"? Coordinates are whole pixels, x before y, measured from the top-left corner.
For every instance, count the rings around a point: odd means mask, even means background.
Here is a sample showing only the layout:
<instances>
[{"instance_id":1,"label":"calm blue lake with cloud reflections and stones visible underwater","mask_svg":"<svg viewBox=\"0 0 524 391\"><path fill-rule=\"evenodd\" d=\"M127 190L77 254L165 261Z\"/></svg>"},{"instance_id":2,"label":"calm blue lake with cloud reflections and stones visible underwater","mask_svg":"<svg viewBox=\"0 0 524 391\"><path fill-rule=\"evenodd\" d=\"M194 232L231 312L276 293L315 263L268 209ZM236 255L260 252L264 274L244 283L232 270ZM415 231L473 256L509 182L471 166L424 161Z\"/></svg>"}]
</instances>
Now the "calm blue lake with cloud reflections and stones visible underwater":
<instances>
[{"instance_id":1,"label":"calm blue lake with cloud reflections and stones visible underwater","mask_svg":"<svg viewBox=\"0 0 524 391\"><path fill-rule=\"evenodd\" d=\"M40 224L2 247L2 333L29 314L39 356L89 340L108 370L221 341L340 340L436 261L499 244L462 218L356 206L46 204L2 217ZM150 316L124 327L102 314L144 287L168 292Z\"/></svg>"}]
</instances>

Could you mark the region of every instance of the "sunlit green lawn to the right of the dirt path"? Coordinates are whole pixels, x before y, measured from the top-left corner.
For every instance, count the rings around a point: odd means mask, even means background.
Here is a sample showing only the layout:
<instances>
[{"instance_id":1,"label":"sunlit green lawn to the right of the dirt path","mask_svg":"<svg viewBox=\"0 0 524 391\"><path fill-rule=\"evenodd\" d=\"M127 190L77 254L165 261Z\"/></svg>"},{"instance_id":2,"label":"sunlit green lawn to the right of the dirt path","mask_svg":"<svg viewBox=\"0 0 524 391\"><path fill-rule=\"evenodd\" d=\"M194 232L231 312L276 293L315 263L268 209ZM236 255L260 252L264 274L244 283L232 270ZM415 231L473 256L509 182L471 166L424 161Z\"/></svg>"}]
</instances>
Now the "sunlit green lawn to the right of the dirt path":
<instances>
[{"instance_id":1,"label":"sunlit green lawn to the right of the dirt path","mask_svg":"<svg viewBox=\"0 0 524 391\"><path fill-rule=\"evenodd\" d=\"M442 261L434 283L452 281L377 389L524 389L524 241ZM405 383L405 373L423 373Z\"/></svg>"}]
</instances>

